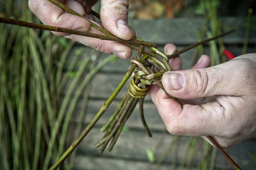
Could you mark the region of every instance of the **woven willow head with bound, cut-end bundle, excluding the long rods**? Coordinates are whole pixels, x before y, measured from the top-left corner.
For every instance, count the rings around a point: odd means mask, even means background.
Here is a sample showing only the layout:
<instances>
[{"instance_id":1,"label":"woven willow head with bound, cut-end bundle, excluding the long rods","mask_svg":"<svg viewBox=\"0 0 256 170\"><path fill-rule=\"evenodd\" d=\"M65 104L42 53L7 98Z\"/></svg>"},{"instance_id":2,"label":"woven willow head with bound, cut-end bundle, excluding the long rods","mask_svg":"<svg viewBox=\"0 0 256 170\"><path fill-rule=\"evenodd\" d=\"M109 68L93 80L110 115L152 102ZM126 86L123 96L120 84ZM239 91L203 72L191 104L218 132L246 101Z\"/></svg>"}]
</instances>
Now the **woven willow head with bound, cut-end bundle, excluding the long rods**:
<instances>
[{"instance_id":1,"label":"woven willow head with bound, cut-end bundle, excluding the long rods","mask_svg":"<svg viewBox=\"0 0 256 170\"><path fill-rule=\"evenodd\" d=\"M111 142L109 144L108 152L112 150L121 133L122 128L125 125L125 122L130 117L138 101L140 101L139 113L141 122L148 136L152 137L152 134L150 133L144 118L144 98L147 95L148 85L157 84L162 88L161 78L163 73L166 71L171 71L172 69L165 58L160 61L158 57L142 54L143 49L144 46L140 46L137 57L131 59L131 63L136 64L136 68L134 69L134 76L131 78L128 92L118 104L115 112L101 128L101 131L106 131L106 133L101 141L95 145L95 147L102 146L100 153L103 153L110 140ZM176 98L172 98L179 102Z\"/></svg>"}]
</instances>

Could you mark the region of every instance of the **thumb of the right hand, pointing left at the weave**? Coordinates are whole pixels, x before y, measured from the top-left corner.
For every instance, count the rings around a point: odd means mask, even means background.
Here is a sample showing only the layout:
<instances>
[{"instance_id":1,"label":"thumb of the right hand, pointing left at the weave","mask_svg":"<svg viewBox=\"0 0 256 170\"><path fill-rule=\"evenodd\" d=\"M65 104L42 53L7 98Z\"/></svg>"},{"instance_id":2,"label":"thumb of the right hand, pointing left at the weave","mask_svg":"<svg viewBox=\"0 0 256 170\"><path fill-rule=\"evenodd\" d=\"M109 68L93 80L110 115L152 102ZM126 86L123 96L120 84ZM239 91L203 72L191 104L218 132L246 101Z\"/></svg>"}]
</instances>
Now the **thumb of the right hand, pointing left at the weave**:
<instances>
[{"instance_id":1,"label":"thumb of the right hand, pointing left at the weave","mask_svg":"<svg viewBox=\"0 0 256 170\"><path fill-rule=\"evenodd\" d=\"M239 59L214 67L172 71L163 74L167 93L180 99L195 99L214 95L243 96L247 92L243 77L246 68Z\"/></svg>"}]
</instances>

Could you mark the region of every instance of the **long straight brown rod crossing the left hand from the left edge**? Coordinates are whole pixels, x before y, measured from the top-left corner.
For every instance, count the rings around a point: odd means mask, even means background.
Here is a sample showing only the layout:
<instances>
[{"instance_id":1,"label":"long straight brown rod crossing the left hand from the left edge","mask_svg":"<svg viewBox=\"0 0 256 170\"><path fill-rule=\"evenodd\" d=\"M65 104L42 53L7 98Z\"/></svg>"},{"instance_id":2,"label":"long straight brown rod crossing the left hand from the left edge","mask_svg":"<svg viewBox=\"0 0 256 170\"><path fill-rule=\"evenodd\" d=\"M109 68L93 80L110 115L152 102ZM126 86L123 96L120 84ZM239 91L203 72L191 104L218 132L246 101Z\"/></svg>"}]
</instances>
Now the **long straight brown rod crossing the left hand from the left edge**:
<instances>
[{"instance_id":1,"label":"long straight brown rod crossing the left hand from the left edge","mask_svg":"<svg viewBox=\"0 0 256 170\"><path fill-rule=\"evenodd\" d=\"M43 29L43 30L55 31L55 32L64 32L64 33L69 33L69 34L98 38L100 40L109 40L109 41L124 42L124 43L129 43L129 44L138 44L138 45L156 47L156 45L151 42L139 41L139 40L134 40L134 39L123 40L121 38L109 36L109 35L101 35L101 34L95 34L95 33L91 33L91 32L72 30L72 29L68 29L68 28L55 27L55 26L44 25L44 24L36 24L36 23L25 22L25 21L18 21L18 20L14 20L14 19L10 19L10 18L5 18L5 17L0 17L0 22L13 24L13 25L19 25L19 26L23 26L23 27L29 27L29 28Z\"/></svg>"}]
</instances>

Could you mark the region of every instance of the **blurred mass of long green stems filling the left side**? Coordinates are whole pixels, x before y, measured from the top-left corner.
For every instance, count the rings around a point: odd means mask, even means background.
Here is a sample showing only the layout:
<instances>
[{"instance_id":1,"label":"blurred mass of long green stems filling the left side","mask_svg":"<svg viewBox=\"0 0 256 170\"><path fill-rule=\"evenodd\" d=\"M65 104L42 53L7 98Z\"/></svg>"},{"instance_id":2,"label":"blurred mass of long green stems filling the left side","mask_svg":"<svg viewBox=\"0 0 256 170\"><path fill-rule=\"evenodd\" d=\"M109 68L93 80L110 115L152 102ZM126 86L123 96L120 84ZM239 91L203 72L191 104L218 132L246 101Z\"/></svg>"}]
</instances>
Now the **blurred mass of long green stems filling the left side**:
<instances>
[{"instance_id":1,"label":"blurred mass of long green stems filling the left side","mask_svg":"<svg viewBox=\"0 0 256 170\"><path fill-rule=\"evenodd\" d=\"M39 22L26 0L0 3L0 15ZM67 38L3 23L0 37L0 169L48 169L69 144L67 134L73 140L81 132L93 75L117 57L98 64L94 49L72 53ZM69 132L72 118L79 121ZM72 169L74 155L62 168Z\"/></svg>"}]
</instances>

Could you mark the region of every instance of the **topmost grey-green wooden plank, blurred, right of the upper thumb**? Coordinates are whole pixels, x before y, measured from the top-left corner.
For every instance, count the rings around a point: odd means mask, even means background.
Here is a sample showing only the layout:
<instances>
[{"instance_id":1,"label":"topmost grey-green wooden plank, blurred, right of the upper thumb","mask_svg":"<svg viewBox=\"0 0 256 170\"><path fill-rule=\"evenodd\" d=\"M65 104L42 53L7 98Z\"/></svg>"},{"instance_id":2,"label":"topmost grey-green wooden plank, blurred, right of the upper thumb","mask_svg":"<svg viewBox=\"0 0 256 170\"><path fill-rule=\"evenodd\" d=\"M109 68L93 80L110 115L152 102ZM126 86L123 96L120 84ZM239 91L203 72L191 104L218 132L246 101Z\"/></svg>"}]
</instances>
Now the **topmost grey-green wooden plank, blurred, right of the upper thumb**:
<instances>
[{"instance_id":1,"label":"topmost grey-green wooden plank, blurred, right of the upper thumb","mask_svg":"<svg viewBox=\"0 0 256 170\"><path fill-rule=\"evenodd\" d=\"M229 44L243 43L246 17L221 17L221 21L236 30L236 32L224 37L224 42ZM196 42L195 31L200 31L204 22L204 17L129 20L129 24L136 30L138 37L141 37L144 41L153 42L158 45L164 45L170 42L176 45L188 45ZM251 43L255 42L255 33L256 32L251 32Z\"/></svg>"}]
</instances>

